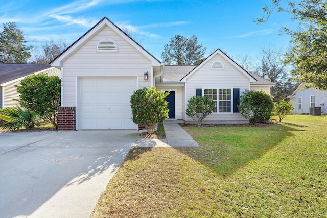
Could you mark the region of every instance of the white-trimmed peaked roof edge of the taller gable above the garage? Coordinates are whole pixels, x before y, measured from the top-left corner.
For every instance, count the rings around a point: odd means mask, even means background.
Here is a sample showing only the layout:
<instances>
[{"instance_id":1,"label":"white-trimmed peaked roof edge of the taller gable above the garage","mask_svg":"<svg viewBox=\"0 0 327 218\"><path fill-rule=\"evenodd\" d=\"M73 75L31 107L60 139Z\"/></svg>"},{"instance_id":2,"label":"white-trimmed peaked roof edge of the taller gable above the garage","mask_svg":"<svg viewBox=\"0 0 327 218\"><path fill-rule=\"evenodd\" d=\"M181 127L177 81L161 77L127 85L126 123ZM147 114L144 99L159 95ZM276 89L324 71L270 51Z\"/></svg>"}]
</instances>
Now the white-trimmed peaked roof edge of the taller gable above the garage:
<instances>
[{"instance_id":1,"label":"white-trimmed peaked roof edge of the taller gable above the garage","mask_svg":"<svg viewBox=\"0 0 327 218\"><path fill-rule=\"evenodd\" d=\"M52 66L60 66L61 62L66 58L70 57L77 50L80 49L88 40L93 38L99 31L101 31L105 26L109 26L116 33L118 33L121 37L127 40L132 46L135 47L140 53L146 56L149 60L151 60L152 65L161 66L161 62L156 59L153 55L151 55L147 50L145 50L141 45L139 45L134 39L132 39L129 35L127 35L124 31L122 31L119 27L117 27L113 22L111 22L107 17L103 17L95 26L89 29L84 35L82 35L79 39L77 39L71 46L67 47L65 51L63 51L60 55L58 55L54 60L50 62Z\"/></svg>"}]
</instances>

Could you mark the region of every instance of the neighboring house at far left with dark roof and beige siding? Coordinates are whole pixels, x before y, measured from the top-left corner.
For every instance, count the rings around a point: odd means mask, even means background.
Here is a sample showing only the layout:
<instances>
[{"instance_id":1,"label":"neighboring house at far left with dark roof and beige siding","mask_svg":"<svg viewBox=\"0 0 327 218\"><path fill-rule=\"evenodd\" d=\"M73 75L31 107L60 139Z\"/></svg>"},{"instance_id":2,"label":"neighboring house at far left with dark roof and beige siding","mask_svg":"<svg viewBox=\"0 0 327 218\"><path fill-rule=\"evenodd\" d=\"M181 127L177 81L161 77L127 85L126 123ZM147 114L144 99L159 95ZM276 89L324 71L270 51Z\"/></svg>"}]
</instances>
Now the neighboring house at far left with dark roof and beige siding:
<instances>
[{"instance_id":1,"label":"neighboring house at far left with dark roof and beige siding","mask_svg":"<svg viewBox=\"0 0 327 218\"><path fill-rule=\"evenodd\" d=\"M20 80L32 74L45 72L49 76L61 77L61 72L50 64L15 64L0 63L0 108L13 107L18 104L14 99L19 99L16 85Z\"/></svg>"}]
</instances>

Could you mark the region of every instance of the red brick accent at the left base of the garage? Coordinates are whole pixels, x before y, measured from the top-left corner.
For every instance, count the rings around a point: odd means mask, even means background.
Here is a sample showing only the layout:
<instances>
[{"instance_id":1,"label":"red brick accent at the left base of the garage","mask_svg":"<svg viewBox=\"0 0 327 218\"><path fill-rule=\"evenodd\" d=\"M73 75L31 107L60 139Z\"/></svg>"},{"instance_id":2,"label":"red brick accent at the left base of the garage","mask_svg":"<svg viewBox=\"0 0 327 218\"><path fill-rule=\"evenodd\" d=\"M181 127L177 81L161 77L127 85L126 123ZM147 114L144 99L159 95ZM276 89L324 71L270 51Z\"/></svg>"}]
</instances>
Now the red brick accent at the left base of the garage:
<instances>
[{"instance_id":1,"label":"red brick accent at the left base of the garage","mask_svg":"<svg viewBox=\"0 0 327 218\"><path fill-rule=\"evenodd\" d=\"M58 131L76 130L75 107L58 107Z\"/></svg>"}]
</instances>

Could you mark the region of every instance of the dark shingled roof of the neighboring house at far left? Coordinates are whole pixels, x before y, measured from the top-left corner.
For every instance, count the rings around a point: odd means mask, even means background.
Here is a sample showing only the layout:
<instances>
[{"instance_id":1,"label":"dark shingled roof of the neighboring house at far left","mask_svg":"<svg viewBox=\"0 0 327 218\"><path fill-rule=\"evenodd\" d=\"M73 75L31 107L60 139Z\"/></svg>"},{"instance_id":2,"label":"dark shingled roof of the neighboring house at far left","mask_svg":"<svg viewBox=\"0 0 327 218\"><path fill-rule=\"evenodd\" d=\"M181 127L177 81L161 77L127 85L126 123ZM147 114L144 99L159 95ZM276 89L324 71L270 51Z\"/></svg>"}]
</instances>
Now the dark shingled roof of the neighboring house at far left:
<instances>
[{"instance_id":1,"label":"dark shingled roof of the neighboring house at far left","mask_svg":"<svg viewBox=\"0 0 327 218\"><path fill-rule=\"evenodd\" d=\"M0 63L0 84L2 85L48 68L51 68L50 64Z\"/></svg>"}]
</instances>

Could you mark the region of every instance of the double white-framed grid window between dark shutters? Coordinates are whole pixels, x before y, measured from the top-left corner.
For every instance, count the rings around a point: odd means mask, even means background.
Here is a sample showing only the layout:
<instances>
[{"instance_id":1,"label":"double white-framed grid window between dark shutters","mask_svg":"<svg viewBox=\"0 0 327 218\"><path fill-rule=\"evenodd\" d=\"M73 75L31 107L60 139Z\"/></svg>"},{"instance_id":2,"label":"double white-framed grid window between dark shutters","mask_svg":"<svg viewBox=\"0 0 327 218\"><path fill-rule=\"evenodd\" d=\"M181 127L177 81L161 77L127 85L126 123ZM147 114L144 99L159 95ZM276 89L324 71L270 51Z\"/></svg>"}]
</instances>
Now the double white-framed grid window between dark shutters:
<instances>
[{"instance_id":1,"label":"double white-framed grid window between dark shutters","mask_svg":"<svg viewBox=\"0 0 327 218\"><path fill-rule=\"evenodd\" d=\"M218 98L217 98L218 90ZM214 100L216 103L213 113L225 113L231 112L231 89L204 89L204 96L208 99ZM218 110L217 110L218 107Z\"/></svg>"}]
</instances>

